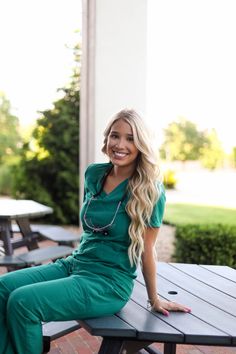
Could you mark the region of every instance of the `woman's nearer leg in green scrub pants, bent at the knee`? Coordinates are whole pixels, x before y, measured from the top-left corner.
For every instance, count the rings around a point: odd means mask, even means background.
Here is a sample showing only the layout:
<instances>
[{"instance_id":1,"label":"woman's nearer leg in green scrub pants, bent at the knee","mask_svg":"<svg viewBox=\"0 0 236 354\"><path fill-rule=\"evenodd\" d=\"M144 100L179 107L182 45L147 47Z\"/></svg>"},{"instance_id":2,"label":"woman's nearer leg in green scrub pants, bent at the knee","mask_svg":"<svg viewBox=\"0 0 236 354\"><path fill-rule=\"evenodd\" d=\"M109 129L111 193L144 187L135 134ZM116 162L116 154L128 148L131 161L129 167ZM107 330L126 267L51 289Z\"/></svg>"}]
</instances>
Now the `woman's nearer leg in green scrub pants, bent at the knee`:
<instances>
[{"instance_id":1,"label":"woman's nearer leg in green scrub pants, bent at the knee","mask_svg":"<svg viewBox=\"0 0 236 354\"><path fill-rule=\"evenodd\" d=\"M42 352L41 321L110 315L126 301L100 277L71 275L16 289L7 307L7 323L18 354ZM22 340L24 338L24 340Z\"/></svg>"}]
</instances>

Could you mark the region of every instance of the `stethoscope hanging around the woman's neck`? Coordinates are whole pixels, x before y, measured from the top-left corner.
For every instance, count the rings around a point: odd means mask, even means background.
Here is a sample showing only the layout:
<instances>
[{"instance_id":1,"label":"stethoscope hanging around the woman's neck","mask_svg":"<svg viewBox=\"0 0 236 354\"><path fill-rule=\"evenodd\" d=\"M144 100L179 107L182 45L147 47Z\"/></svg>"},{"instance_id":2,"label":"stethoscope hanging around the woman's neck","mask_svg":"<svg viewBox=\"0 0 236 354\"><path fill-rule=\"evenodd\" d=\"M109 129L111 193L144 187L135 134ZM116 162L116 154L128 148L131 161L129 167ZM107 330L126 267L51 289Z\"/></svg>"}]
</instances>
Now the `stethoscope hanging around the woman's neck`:
<instances>
[{"instance_id":1,"label":"stethoscope hanging around the woman's neck","mask_svg":"<svg viewBox=\"0 0 236 354\"><path fill-rule=\"evenodd\" d=\"M89 206L91 204L91 202L93 200L96 200L96 198L101 194L101 192L103 191L103 187L105 185L107 176L109 175L109 173L111 172L111 170L113 169L113 166L111 166L111 168L108 169L108 171L104 174L102 180L101 180L101 187L99 189L99 191L96 194L93 194L92 197L89 199L87 206L85 208L85 212L84 212L84 216L83 216L83 221L85 223L85 225L93 232L93 233L102 233L105 236L109 235L109 228L114 224L114 221L116 219L117 213L120 209L120 206L122 204L122 202L125 200L126 195L127 195L127 191L125 190L122 198L119 200L117 207L116 207L116 211L111 219L111 221L109 222L109 224L105 225L105 226L95 226L93 224L89 224L88 220L87 220L87 212L89 209ZM91 220L91 219L90 219Z\"/></svg>"}]
</instances>

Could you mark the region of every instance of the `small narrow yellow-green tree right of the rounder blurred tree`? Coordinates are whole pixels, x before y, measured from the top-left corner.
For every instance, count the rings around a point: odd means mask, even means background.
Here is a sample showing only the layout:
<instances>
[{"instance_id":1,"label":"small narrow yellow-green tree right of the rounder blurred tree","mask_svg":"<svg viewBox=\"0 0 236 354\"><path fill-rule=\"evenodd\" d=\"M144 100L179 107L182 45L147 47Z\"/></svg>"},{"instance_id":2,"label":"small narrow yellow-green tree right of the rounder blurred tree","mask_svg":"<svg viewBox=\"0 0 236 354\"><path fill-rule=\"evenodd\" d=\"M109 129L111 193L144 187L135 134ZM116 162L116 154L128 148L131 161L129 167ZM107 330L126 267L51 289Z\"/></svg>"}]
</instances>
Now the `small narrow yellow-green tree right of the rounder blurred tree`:
<instances>
[{"instance_id":1,"label":"small narrow yellow-green tree right of the rounder blurred tree","mask_svg":"<svg viewBox=\"0 0 236 354\"><path fill-rule=\"evenodd\" d=\"M224 151L215 129L212 129L206 137L205 143L200 148L200 160L204 167L214 170L222 166Z\"/></svg>"}]
</instances>

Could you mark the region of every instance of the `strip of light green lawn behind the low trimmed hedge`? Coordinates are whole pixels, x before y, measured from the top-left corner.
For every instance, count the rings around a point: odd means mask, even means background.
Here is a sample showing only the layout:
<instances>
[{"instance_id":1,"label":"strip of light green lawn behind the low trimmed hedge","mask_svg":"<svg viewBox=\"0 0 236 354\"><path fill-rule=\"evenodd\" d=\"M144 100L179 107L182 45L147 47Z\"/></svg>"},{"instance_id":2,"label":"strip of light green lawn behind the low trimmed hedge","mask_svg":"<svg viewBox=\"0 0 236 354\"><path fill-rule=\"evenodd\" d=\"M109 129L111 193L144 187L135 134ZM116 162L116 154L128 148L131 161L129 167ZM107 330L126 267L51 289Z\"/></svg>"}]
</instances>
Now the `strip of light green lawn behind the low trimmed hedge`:
<instances>
[{"instance_id":1,"label":"strip of light green lawn behind the low trimmed hedge","mask_svg":"<svg viewBox=\"0 0 236 354\"><path fill-rule=\"evenodd\" d=\"M167 204L164 223L236 225L236 209L195 204Z\"/></svg>"}]
</instances>

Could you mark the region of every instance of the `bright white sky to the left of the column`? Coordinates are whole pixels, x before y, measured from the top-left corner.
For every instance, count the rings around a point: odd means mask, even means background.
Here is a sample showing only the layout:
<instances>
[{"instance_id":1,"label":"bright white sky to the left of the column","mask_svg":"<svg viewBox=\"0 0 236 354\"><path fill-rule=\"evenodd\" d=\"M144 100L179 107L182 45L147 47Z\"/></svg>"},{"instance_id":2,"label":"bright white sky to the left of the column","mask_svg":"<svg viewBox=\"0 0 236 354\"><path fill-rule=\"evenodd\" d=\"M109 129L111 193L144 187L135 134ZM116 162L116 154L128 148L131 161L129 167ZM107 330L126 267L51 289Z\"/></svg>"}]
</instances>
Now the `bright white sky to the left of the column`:
<instances>
[{"instance_id":1,"label":"bright white sky to the left of the column","mask_svg":"<svg viewBox=\"0 0 236 354\"><path fill-rule=\"evenodd\" d=\"M0 0L0 91L23 126L69 82L81 11L80 0Z\"/></svg>"}]
</instances>

